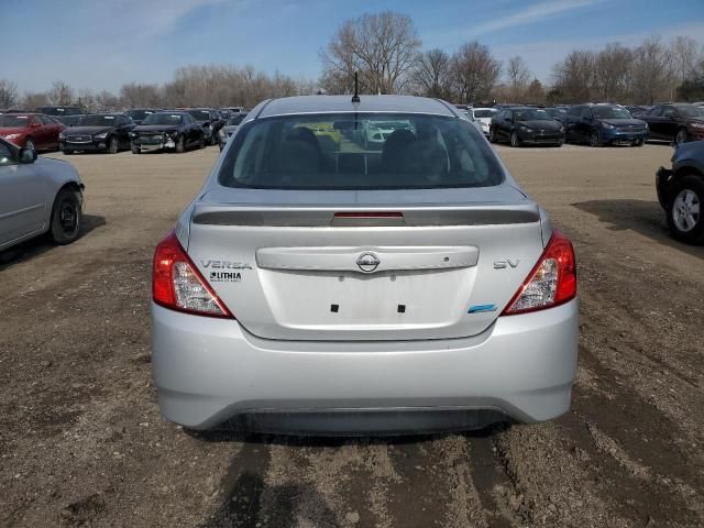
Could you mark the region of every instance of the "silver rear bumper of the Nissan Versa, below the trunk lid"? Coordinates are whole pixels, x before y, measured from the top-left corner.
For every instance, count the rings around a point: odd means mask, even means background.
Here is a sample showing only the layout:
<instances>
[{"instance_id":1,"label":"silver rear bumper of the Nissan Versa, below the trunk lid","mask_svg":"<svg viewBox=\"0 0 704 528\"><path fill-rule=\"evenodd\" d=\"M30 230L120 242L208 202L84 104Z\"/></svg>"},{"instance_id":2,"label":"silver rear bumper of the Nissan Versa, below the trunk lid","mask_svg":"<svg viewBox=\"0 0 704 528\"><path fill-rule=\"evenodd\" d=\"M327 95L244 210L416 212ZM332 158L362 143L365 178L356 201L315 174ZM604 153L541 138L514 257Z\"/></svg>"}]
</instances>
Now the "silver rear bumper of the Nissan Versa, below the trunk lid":
<instances>
[{"instance_id":1,"label":"silver rear bumper of the Nissan Versa, below the trunk lid","mask_svg":"<svg viewBox=\"0 0 704 528\"><path fill-rule=\"evenodd\" d=\"M404 433L556 418L576 372L578 301L502 317L466 339L304 342L152 305L162 414L293 433Z\"/></svg>"}]
</instances>

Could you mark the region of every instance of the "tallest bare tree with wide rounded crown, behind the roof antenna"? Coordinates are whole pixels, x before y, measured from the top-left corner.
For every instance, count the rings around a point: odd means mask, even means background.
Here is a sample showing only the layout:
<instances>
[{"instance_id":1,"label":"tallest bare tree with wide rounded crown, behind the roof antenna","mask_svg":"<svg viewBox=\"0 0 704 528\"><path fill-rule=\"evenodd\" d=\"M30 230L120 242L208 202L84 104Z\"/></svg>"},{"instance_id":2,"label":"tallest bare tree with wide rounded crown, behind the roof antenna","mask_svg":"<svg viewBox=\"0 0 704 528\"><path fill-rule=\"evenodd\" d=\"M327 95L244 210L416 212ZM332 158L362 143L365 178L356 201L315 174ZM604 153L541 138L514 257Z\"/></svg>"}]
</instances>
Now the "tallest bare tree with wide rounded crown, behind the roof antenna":
<instances>
[{"instance_id":1,"label":"tallest bare tree with wide rounded crown, behind the roof antenna","mask_svg":"<svg viewBox=\"0 0 704 528\"><path fill-rule=\"evenodd\" d=\"M356 72L365 91L397 94L406 86L419 47L418 31L405 14L384 11L346 20L320 53L321 84L350 91Z\"/></svg>"}]
</instances>

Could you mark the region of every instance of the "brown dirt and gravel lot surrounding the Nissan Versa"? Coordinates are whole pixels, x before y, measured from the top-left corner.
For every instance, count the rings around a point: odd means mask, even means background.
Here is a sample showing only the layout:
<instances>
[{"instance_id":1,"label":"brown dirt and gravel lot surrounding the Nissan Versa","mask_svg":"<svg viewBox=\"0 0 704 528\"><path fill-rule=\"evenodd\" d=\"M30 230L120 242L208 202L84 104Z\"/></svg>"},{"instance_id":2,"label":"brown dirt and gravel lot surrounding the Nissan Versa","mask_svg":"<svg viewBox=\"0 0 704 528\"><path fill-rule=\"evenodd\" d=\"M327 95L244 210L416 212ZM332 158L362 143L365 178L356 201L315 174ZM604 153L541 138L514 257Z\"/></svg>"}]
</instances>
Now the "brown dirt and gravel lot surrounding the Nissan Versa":
<instances>
[{"instance_id":1,"label":"brown dirt and gravel lot surrounding the Nissan Versa","mask_svg":"<svg viewBox=\"0 0 704 528\"><path fill-rule=\"evenodd\" d=\"M667 234L671 148L498 151L578 252L570 413L391 440L187 433L151 383L150 260L218 151L72 156L84 237L0 254L0 525L704 526L704 248Z\"/></svg>"}]
</instances>

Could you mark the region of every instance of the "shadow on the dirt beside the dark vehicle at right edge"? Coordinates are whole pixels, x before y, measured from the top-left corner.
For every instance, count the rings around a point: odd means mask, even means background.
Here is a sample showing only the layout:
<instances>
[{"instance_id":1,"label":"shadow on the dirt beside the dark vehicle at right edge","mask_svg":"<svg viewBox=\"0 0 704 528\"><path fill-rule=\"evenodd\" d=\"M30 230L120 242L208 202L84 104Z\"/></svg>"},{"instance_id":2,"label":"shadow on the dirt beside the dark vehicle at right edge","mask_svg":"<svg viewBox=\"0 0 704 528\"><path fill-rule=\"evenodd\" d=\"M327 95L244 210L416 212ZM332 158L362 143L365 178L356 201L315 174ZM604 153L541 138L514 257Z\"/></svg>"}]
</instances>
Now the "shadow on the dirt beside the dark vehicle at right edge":
<instances>
[{"instance_id":1,"label":"shadow on the dirt beside the dark vehicle at right edge","mask_svg":"<svg viewBox=\"0 0 704 528\"><path fill-rule=\"evenodd\" d=\"M610 224L612 231L631 230L663 245L690 255L704 257L704 248L688 245L670 237L664 211L657 201L648 200L590 200L572 204L573 207L595 215L600 221Z\"/></svg>"}]
</instances>

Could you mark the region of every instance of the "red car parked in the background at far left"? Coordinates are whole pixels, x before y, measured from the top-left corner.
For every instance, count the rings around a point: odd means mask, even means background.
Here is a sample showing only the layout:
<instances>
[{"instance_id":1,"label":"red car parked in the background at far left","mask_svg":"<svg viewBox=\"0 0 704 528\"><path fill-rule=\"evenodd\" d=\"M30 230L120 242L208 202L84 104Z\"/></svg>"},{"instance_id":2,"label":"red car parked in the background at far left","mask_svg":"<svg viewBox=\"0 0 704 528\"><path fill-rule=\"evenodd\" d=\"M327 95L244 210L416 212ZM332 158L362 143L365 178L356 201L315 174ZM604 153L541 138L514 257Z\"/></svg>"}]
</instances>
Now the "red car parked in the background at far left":
<instances>
[{"instance_id":1,"label":"red car parked in the background at far left","mask_svg":"<svg viewBox=\"0 0 704 528\"><path fill-rule=\"evenodd\" d=\"M40 113L3 113L0 136L15 145L35 151L58 150L58 134L66 127Z\"/></svg>"}]
</instances>

